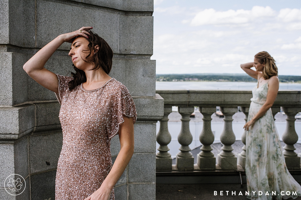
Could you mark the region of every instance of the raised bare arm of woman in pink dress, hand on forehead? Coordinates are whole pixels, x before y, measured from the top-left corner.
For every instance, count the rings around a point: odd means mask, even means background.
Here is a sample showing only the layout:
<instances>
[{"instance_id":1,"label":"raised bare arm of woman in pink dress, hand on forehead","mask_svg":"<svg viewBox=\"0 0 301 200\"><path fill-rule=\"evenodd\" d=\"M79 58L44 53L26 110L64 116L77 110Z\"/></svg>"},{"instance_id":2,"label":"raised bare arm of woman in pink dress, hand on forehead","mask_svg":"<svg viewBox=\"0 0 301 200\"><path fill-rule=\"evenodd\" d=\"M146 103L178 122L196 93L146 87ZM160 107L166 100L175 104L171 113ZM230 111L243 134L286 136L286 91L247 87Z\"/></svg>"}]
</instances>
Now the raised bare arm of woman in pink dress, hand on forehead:
<instances>
[{"instance_id":1,"label":"raised bare arm of woman in pink dress, hand on forehead","mask_svg":"<svg viewBox=\"0 0 301 200\"><path fill-rule=\"evenodd\" d=\"M51 55L59 48L64 42L72 42L76 36L88 37L88 30L92 27L82 27L77 31L65 33L57 36L54 40L40 49L32 58L30 58L24 65L23 69L26 73L48 90L58 93L58 80L57 76L44 68L45 63ZM80 32L79 32L80 31Z\"/></svg>"}]
</instances>

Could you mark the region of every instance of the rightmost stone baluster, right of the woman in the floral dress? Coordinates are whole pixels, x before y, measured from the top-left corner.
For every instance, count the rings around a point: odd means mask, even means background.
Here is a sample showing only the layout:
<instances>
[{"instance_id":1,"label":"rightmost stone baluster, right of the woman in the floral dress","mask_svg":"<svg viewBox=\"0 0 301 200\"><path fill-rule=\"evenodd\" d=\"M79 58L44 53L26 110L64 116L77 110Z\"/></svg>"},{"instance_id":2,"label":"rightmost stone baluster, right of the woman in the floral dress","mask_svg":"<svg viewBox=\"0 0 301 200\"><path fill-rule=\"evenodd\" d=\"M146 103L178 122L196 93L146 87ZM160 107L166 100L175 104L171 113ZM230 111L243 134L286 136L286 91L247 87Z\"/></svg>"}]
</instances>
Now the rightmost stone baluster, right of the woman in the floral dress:
<instances>
[{"instance_id":1,"label":"rightmost stone baluster, right of the woman in the floral dress","mask_svg":"<svg viewBox=\"0 0 301 200\"><path fill-rule=\"evenodd\" d=\"M300 157L296 154L294 150L294 144L298 141L298 135L295 130L295 115L301 111L301 108L290 108L290 107L281 107L282 110L287 115L286 118L286 128L282 135L282 141L285 143L283 147L284 158L287 169L300 169Z\"/></svg>"}]
</instances>

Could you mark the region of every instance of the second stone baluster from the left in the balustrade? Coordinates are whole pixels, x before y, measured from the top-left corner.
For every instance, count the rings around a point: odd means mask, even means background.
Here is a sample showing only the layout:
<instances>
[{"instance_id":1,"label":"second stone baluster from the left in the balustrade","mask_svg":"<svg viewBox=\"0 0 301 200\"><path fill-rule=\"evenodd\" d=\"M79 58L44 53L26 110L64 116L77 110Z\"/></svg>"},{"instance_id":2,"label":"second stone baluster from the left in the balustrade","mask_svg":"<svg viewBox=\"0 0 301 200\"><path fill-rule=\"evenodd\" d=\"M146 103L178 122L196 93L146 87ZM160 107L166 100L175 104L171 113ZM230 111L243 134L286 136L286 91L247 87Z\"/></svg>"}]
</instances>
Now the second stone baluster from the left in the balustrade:
<instances>
[{"instance_id":1,"label":"second stone baluster from the left in the balustrade","mask_svg":"<svg viewBox=\"0 0 301 200\"><path fill-rule=\"evenodd\" d=\"M188 145L192 142L192 135L189 130L190 115L194 112L194 107L178 107L179 113L182 115L181 131L178 135L178 142L181 144L180 152L176 155L176 165L178 171L193 171L194 157Z\"/></svg>"}]
</instances>

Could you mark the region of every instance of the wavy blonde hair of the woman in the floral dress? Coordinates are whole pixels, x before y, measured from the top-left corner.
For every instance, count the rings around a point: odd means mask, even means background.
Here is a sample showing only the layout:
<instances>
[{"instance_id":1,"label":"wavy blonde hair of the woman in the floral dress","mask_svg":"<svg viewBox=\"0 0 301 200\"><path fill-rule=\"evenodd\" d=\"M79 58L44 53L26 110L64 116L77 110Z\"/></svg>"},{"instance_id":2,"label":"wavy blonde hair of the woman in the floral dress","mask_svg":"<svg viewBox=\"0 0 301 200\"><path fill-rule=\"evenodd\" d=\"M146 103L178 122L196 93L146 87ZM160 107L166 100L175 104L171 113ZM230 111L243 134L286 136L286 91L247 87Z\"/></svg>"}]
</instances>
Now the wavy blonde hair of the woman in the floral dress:
<instances>
[{"instance_id":1,"label":"wavy blonde hair of the woman in the floral dress","mask_svg":"<svg viewBox=\"0 0 301 200\"><path fill-rule=\"evenodd\" d=\"M274 58L266 51L259 52L255 55L255 58L260 64L264 63L262 76L264 79L269 79L272 76L278 76L278 68L275 64Z\"/></svg>"}]
</instances>

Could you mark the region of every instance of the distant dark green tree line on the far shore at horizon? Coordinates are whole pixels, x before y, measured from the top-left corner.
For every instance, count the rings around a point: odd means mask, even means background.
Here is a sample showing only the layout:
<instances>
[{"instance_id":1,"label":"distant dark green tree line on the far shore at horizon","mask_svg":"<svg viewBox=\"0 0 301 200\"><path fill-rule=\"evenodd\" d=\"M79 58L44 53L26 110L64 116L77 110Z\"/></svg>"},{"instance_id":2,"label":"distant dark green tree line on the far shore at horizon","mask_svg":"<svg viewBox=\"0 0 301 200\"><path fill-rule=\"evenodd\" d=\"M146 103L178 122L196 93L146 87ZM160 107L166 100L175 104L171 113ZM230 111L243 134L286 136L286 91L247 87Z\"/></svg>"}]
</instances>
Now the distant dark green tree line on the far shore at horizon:
<instances>
[{"instance_id":1,"label":"distant dark green tree line on the far shore at horizon","mask_svg":"<svg viewBox=\"0 0 301 200\"><path fill-rule=\"evenodd\" d=\"M301 76L278 76L280 82L300 82ZM257 82L244 74L157 74L156 81L241 81Z\"/></svg>"}]
</instances>

